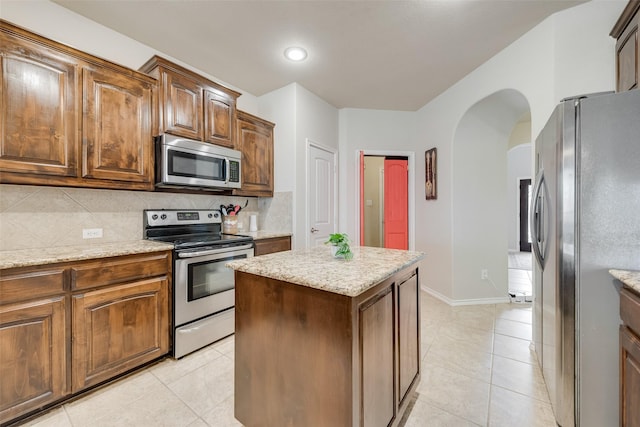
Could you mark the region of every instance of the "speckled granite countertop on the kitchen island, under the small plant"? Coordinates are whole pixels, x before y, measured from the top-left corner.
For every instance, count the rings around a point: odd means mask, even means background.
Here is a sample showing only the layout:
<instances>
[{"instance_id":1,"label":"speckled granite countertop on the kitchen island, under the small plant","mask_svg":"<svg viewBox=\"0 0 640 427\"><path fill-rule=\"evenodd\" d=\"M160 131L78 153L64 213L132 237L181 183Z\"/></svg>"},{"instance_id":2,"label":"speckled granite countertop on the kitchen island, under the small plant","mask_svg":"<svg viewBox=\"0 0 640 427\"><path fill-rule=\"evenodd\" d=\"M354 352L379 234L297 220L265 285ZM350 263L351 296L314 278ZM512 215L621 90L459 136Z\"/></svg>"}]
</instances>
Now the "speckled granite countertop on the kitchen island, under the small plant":
<instances>
[{"instance_id":1,"label":"speckled granite countertop on the kitchen island, under the small plant","mask_svg":"<svg viewBox=\"0 0 640 427\"><path fill-rule=\"evenodd\" d=\"M423 252L352 247L353 259L334 258L331 248L297 249L231 261L237 271L355 297L404 267L424 258Z\"/></svg>"}]
</instances>

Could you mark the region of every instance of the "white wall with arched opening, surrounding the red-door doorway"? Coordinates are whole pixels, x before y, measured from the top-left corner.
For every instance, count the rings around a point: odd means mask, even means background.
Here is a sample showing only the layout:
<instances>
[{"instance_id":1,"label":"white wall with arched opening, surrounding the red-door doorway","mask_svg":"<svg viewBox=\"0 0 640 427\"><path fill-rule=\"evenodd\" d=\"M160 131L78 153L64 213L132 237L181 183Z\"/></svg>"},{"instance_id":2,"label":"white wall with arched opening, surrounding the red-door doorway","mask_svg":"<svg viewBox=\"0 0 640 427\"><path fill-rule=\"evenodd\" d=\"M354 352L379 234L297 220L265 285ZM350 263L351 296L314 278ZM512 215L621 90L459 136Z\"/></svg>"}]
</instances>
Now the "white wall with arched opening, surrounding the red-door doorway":
<instances>
[{"instance_id":1,"label":"white wall with arched opening, surrounding the red-door doorway","mask_svg":"<svg viewBox=\"0 0 640 427\"><path fill-rule=\"evenodd\" d=\"M608 34L625 4L625 1L594 0L553 15L415 113L342 110L341 227L355 233L355 150L394 147L415 151L421 159L425 150L437 147L437 200L424 200L424 162L416 164L416 249L427 254L423 261L422 286L454 303L486 297L478 292L476 266L463 266L462 271L459 262L454 266L453 219L457 213L454 212L453 145L458 125L480 100L504 89L514 89L530 107L534 137L562 97L613 89L615 41ZM516 121L517 118L509 125L513 127ZM504 171L506 155L497 161L496 167ZM506 179L504 171L499 184L503 194ZM504 216L505 203L496 208L500 210L498 215ZM506 240L505 236L504 251ZM502 249L496 249L488 256L493 260L488 263L500 265L495 260L504 259L505 254ZM473 283L454 280L454 271L460 278L473 277Z\"/></svg>"}]
</instances>

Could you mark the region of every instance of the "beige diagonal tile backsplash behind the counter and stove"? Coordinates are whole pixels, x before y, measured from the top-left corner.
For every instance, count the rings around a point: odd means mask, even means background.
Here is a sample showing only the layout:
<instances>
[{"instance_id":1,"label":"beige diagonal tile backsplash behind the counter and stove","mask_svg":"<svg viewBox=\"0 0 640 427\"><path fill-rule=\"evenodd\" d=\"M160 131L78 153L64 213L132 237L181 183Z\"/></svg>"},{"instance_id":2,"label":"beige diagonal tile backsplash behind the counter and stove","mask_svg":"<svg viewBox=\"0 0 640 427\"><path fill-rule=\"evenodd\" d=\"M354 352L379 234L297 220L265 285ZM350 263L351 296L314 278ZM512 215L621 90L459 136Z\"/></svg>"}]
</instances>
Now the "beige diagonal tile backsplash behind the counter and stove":
<instances>
[{"instance_id":1,"label":"beige diagonal tile backsplash behind the counter and stove","mask_svg":"<svg viewBox=\"0 0 640 427\"><path fill-rule=\"evenodd\" d=\"M248 202L240 229L247 230L248 215L257 213L260 230L291 232L292 199L291 192L254 198L2 184L0 250L138 240L144 209L218 209L230 203ZM103 230L102 238L82 238L83 229L94 228Z\"/></svg>"}]
</instances>

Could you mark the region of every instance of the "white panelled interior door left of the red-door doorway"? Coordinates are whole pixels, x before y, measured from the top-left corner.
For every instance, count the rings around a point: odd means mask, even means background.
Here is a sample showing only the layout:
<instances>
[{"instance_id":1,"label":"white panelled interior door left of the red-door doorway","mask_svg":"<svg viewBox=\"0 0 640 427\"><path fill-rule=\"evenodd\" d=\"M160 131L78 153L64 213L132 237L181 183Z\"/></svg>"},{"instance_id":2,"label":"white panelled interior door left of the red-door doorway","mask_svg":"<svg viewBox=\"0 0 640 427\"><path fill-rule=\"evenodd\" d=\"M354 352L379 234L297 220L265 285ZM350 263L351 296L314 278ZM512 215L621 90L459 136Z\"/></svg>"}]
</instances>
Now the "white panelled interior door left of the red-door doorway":
<instances>
[{"instance_id":1,"label":"white panelled interior door left of the red-door doorway","mask_svg":"<svg viewBox=\"0 0 640 427\"><path fill-rule=\"evenodd\" d=\"M336 232L336 152L307 141L307 246L318 246Z\"/></svg>"}]
</instances>

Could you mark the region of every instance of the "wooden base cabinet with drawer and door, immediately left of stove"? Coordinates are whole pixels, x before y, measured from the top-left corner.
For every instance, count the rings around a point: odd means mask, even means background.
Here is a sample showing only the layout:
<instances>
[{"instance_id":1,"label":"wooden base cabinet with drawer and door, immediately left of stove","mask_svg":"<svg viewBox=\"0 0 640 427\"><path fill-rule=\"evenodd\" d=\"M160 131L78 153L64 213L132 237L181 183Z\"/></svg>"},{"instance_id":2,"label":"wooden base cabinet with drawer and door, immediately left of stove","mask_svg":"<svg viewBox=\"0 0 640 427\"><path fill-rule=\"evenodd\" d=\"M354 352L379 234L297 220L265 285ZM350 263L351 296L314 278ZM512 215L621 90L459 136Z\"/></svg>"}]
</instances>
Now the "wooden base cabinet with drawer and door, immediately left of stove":
<instances>
[{"instance_id":1,"label":"wooden base cabinet with drawer and door, immediately left of stove","mask_svg":"<svg viewBox=\"0 0 640 427\"><path fill-rule=\"evenodd\" d=\"M164 252L71 267L74 393L168 353L169 263Z\"/></svg>"}]
</instances>

